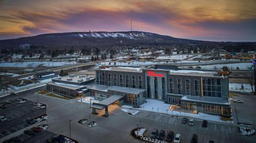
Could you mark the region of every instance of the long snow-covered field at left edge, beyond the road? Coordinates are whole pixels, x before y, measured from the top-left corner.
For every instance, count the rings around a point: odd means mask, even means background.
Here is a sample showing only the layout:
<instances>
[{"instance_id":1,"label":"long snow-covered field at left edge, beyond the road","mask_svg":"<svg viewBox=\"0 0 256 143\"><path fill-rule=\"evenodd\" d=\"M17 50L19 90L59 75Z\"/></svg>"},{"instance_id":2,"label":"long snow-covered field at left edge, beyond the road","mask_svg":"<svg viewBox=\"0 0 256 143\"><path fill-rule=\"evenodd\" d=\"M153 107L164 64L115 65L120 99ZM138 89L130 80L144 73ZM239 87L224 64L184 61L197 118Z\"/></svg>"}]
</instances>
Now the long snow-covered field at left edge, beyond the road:
<instances>
[{"instance_id":1,"label":"long snow-covered field at left edge, beyond the road","mask_svg":"<svg viewBox=\"0 0 256 143\"><path fill-rule=\"evenodd\" d=\"M60 67L67 65L74 65L76 62L13 62L13 63L0 63L0 67Z\"/></svg>"}]
</instances>

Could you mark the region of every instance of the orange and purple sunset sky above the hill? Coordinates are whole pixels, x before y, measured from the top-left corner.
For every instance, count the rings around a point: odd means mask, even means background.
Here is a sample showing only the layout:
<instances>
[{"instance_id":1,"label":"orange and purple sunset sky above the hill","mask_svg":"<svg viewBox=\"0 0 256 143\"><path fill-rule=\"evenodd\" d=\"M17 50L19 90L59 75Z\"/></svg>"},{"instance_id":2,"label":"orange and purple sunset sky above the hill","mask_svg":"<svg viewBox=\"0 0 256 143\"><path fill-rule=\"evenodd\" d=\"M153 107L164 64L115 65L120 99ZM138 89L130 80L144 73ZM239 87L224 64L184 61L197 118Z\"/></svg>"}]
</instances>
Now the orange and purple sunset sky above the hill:
<instances>
[{"instance_id":1,"label":"orange and purple sunset sky above the hill","mask_svg":"<svg viewBox=\"0 0 256 143\"><path fill-rule=\"evenodd\" d=\"M143 31L206 41L256 41L256 1L0 0L0 39Z\"/></svg>"}]
</instances>

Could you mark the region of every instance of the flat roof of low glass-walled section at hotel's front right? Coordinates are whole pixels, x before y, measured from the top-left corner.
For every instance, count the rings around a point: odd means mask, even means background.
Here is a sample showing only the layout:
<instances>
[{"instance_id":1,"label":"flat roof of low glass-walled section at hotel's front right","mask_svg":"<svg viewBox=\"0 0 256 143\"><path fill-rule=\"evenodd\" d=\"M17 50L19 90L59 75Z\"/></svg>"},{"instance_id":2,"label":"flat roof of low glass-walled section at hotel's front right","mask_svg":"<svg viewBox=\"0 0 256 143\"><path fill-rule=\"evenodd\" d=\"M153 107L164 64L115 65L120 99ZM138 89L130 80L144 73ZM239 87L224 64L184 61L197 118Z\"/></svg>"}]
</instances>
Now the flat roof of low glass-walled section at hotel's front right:
<instances>
[{"instance_id":1,"label":"flat roof of low glass-walled section at hotel's front right","mask_svg":"<svg viewBox=\"0 0 256 143\"><path fill-rule=\"evenodd\" d=\"M212 98L212 97L201 97L201 96L183 96L181 100L188 101L197 101L197 102L208 102L208 103L216 103L216 104L226 104L229 105L229 101L227 98Z\"/></svg>"}]
</instances>

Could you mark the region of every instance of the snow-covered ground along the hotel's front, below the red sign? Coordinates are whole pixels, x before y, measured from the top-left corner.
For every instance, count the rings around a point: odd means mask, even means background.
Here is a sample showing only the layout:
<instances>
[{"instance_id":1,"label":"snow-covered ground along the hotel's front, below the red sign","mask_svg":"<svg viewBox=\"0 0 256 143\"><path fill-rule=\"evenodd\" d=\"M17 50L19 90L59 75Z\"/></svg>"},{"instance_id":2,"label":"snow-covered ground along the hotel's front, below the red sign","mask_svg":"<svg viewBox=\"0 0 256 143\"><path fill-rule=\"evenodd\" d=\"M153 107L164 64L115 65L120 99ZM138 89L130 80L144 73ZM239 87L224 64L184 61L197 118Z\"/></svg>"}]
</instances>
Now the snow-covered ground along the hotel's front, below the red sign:
<instances>
[{"instance_id":1,"label":"snow-covered ground along the hotel's front, below the red sign","mask_svg":"<svg viewBox=\"0 0 256 143\"><path fill-rule=\"evenodd\" d=\"M208 121L233 123L233 121L222 121L220 116L209 115L207 113L202 113L202 112L199 112L198 114L194 114L194 113L180 112L175 110L171 111L170 106L171 106L170 104L166 104L159 100L147 99L146 103L140 105L140 108L136 108L136 109L154 111L154 112L160 112L160 113L168 113L169 115L183 116L183 117L202 119L202 120L208 120ZM134 108L133 106L129 106L129 105L123 105L122 107Z\"/></svg>"}]
</instances>

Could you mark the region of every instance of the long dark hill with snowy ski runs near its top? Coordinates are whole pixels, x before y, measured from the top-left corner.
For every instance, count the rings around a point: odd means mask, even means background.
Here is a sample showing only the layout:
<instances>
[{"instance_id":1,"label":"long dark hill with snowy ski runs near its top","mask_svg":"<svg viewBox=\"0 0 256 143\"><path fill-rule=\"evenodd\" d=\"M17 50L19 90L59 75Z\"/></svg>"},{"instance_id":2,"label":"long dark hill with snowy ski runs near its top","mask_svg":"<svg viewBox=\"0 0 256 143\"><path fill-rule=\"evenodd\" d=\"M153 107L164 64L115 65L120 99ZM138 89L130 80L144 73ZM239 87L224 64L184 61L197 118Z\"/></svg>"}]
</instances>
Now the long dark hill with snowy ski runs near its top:
<instances>
[{"instance_id":1,"label":"long dark hill with snowy ski runs near its top","mask_svg":"<svg viewBox=\"0 0 256 143\"><path fill-rule=\"evenodd\" d=\"M42 34L17 39L0 40L0 48L15 48L30 44L46 48L70 47L113 47L122 45L173 45L190 43L212 43L199 40L188 40L147 32L72 32Z\"/></svg>"}]
</instances>

